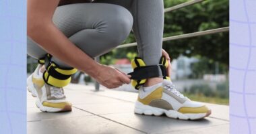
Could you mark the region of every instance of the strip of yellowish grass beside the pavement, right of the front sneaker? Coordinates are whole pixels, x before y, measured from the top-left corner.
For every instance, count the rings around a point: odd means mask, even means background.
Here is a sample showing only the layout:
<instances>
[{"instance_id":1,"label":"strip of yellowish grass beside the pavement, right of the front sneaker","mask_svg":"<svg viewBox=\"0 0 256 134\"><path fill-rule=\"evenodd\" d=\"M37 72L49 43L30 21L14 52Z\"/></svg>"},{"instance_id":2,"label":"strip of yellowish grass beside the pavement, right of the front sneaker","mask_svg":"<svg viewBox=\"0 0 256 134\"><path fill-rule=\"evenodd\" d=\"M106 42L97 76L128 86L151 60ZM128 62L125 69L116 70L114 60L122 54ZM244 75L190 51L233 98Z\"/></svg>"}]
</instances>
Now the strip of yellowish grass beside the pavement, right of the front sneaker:
<instances>
[{"instance_id":1,"label":"strip of yellowish grass beside the pavement, right of the front sneaker","mask_svg":"<svg viewBox=\"0 0 256 134\"><path fill-rule=\"evenodd\" d=\"M205 96L203 94L189 94L189 93L183 93L183 94L194 101L201 101L204 103L214 103L218 105L229 105L229 98Z\"/></svg>"}]
</instances>

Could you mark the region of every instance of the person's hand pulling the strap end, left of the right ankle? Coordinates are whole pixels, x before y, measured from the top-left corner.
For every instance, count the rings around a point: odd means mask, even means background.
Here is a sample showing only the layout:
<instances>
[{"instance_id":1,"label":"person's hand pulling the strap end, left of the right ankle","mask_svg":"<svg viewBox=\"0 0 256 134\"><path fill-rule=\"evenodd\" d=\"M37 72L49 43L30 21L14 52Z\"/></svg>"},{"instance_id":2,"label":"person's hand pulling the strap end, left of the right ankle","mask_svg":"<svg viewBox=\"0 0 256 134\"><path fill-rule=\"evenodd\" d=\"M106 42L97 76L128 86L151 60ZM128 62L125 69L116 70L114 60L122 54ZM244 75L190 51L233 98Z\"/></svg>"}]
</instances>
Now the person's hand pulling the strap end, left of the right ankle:
<instances>
[{"instance_id":1,"label":"person's hand pulling the strap end, left of the right ankle","mask_svg":"<svg viewBox=\"0 0 256 134\"><path fill-rule=\"evenodd\" d=\"M100 65L95 79L107 88L117 88L131 82L130 75L113 68L112 66Z\"/></svg>"}]
</instances>

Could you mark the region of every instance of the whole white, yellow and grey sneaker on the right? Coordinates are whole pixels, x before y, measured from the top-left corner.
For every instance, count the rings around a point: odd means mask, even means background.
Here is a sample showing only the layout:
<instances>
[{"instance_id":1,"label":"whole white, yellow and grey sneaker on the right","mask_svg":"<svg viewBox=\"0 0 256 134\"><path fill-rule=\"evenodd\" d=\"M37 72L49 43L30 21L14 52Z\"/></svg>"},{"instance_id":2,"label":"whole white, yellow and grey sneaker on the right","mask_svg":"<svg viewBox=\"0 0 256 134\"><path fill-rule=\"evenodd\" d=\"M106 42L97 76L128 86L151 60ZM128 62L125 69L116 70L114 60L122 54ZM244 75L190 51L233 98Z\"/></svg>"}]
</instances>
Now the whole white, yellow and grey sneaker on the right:
<instances>
[{"instance_id":1,"label":"whole white, yellow and grey sneaker on the right","mask_svg":"<svg viewBox=\"0 0 256 134\"><path fill-rule=\"evenodd\" d=\"M167 117L183 120L202 119L211 114L211 110L205 105L193 102L177 91L170 80L139 88L134 112L156 116L165 113Z\"/></svg>"}]
</instances>

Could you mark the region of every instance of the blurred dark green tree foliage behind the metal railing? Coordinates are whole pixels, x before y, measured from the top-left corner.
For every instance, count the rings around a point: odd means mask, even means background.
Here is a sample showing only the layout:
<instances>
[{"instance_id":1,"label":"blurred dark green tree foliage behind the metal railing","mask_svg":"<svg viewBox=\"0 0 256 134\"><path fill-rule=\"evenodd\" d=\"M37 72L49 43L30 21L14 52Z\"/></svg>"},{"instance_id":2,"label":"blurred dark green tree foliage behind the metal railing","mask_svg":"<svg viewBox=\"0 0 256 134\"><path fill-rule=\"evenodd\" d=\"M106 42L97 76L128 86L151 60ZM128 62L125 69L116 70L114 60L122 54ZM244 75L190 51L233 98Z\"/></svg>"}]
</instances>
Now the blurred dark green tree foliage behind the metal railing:
<instances>
[{"instance_id":1,"label":"blurred dark green tree foliage behind the metal railing","mask_svg":"<svg viewBox=\"0 0 256 134\"><path fill-rule=\"evenodd\" d=\"M172 7L186 1L189 0L164 0L164 7ZM229 25L228 4L228 0L205 0L195 5L165 13L164 37L227 27ZM220 63L220 70L226 70L223 72L227 72L229 61L228 36L228 32L225 32L196 38L172 40L164 42L163 48L170 54L172 59L177 58L180 54L197 56L199 59L208 60L207 66L213 66L215 62ZM123 44L131 42L135 42L133 33L129 35ZM137 54L137 47L113 50L102 57L127 58L127 53ZM209 70L210 68L205 69Z\"/></svg>"}]
</instances>

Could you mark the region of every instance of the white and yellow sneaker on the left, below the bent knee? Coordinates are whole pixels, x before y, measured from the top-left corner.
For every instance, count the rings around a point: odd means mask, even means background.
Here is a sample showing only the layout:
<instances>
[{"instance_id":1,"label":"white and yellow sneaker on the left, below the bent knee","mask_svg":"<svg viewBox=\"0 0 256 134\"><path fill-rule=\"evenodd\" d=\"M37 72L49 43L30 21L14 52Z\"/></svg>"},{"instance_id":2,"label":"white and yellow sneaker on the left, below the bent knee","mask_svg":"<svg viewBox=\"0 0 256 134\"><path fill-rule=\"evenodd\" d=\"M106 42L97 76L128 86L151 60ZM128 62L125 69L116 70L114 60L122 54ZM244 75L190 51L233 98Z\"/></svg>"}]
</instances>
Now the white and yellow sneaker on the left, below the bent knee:
<instances>
[{"instance_id":1,"label":"white and yellow sneaker on the left, below the bent knee","mask_svg":"<svg viewBox=\"0 0 256 134\"><path fill-rule=\"evenodd\" d=\"M71 103L67 102L63 88L46 84L39 71L42 65L27 78L28 91L36 98L36 107L43 112L71 111Z\"/></svg>"}]
</instances>

